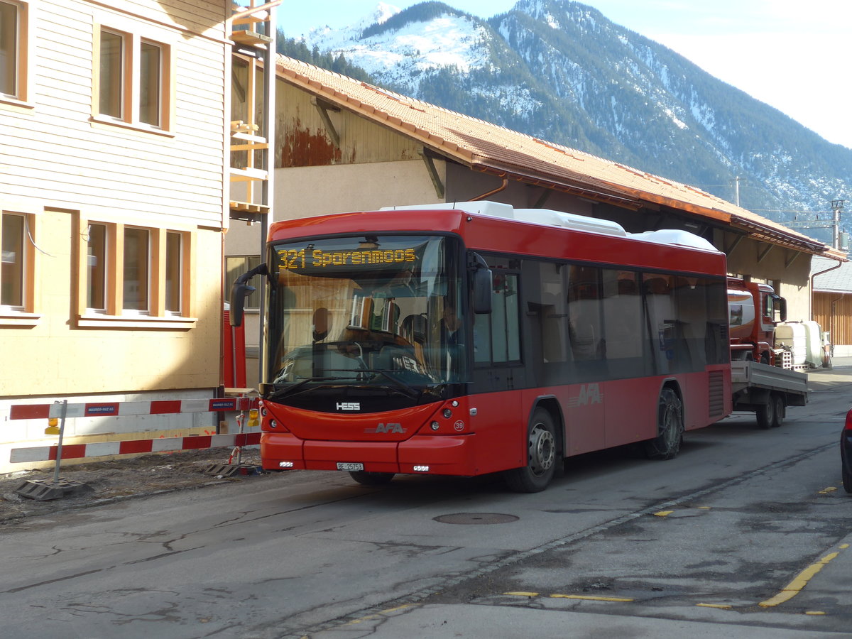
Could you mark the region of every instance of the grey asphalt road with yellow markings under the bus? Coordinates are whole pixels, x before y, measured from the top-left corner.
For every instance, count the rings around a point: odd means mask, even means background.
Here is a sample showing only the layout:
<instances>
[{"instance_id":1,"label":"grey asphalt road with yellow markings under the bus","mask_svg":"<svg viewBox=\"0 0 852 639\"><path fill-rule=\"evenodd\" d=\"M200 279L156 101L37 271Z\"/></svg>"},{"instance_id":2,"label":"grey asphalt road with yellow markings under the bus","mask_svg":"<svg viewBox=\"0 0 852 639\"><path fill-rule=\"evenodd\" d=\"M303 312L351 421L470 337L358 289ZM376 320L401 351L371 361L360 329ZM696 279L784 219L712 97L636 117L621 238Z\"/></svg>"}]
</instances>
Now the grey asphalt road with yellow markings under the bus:
<instances>
[{"instance_id":1,"label":"grey asphalt road with yellow markings under the bus","mask_svg":"<svg viewBox=\"0 0 852 639\"><path fill-rule=\"evenodd\" d=\"M779 429L737 415L678 458L492 477L293 472L4 527L14 637L814 637L852 632L852 361Z\"/></svg>"}]
</instances>

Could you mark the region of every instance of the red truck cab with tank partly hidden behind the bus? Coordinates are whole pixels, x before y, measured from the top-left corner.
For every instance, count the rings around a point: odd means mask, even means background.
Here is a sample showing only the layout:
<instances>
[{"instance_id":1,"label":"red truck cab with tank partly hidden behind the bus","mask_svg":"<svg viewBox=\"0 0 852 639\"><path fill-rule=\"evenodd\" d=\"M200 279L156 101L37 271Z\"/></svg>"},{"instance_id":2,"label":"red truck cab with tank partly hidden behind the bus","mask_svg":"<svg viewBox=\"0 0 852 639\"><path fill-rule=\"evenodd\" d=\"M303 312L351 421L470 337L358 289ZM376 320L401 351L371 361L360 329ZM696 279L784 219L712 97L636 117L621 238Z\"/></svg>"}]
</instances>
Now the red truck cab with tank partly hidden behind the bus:
<instances>
[{"instance_id":1,"label":"red truck cab with tank partly hidden behind the bus","mask_svg":"<svg viewBox=\"0 0 852 639\"><path fill-rule=\"evenodd\" d=\"M787 319L786 300L768 284L728 278L731 360L775 364L775 325Z\"/></svg>"}]
</instances>

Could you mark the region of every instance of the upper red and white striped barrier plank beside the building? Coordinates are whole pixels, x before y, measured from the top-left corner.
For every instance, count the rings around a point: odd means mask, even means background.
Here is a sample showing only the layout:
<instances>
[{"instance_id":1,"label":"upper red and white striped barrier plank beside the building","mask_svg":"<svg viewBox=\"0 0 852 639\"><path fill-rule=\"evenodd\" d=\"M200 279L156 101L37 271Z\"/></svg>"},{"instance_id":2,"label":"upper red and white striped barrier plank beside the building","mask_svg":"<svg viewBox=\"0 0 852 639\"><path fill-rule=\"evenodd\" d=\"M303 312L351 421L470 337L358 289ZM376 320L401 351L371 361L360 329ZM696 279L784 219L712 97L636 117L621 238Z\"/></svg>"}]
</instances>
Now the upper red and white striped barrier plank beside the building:
<instances>
[{"instance_id":1,"label":"upper red and white striped barrier plank beside the building","mask_svg":"<svg viewBox=\"0 0 852 639\"><path fill-rule=\"evenodd\" d=\"M67 404L65 417L118 417L124 415L172 415L178 412L248 411L257 408L256 397L220 397L212 400L105 401ZM62 417L62 403L11 406L9 419ZM63 455L63 457L65 457Z\"/></svg>"}]
</instances>

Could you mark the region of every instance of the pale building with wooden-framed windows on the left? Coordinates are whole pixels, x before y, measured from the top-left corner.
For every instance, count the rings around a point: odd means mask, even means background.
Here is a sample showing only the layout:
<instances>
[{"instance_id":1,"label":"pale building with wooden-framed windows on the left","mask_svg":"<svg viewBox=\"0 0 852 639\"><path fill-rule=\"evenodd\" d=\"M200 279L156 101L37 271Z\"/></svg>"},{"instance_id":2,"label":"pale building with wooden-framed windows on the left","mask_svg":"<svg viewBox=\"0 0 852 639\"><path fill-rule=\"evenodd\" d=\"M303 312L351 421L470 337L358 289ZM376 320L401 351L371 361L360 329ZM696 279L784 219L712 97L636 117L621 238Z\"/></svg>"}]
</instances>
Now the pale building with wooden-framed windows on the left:
<instances>
[{"instance_id":1,"label":"pale building with wooden-framed windows on the left","mask_svg":"<svg viewBox=\"0 0 852 639\"><path fill-rule=\"evenodd\" d=\"M0 0L0 472L46 425L10 406L215 396L231 14ZM66 427L69 442L211 429L209 413Z\"/></svg>"}]
</instances>

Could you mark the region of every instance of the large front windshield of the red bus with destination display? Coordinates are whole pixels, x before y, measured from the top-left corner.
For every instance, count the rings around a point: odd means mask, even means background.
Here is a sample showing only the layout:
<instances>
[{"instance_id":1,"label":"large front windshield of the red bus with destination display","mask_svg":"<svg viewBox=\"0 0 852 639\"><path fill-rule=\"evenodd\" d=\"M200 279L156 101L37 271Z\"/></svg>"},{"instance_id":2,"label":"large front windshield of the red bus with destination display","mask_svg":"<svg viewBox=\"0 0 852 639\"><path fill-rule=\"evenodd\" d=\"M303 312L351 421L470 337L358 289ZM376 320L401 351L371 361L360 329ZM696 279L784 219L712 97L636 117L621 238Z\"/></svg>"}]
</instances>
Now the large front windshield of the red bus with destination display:
<instances>
[{"instance_id":1,"label":"large front windshield of the red bus with destination display","mask_svg":"<svg viewBox=\"0 0 852 639\"><path fill-rule=\"evenodd\" d=\"M384 389L419 400L423 389L463 381L458 239L360 235L271 250L267 381L276 400L342 387L347 397Z\"/></svg>"}]
</instances>

